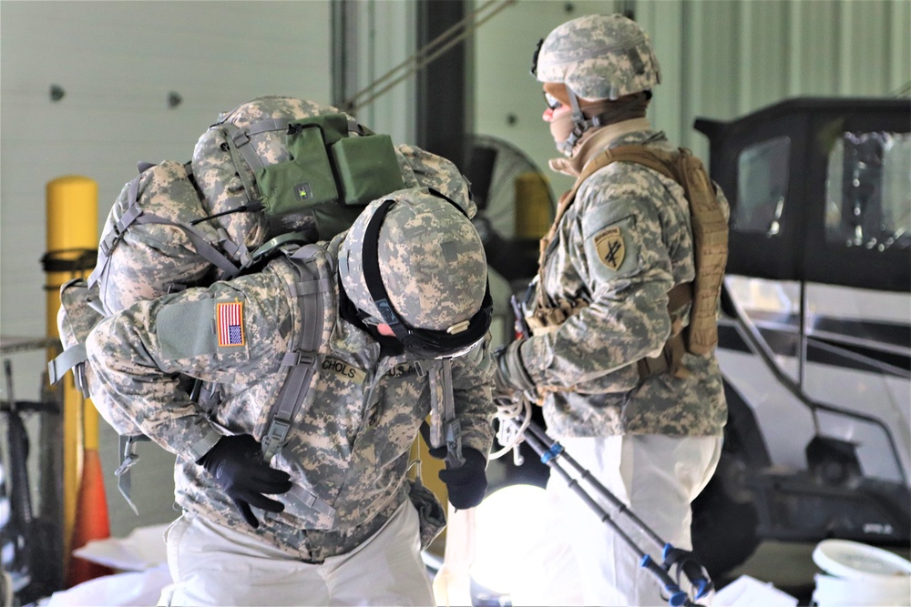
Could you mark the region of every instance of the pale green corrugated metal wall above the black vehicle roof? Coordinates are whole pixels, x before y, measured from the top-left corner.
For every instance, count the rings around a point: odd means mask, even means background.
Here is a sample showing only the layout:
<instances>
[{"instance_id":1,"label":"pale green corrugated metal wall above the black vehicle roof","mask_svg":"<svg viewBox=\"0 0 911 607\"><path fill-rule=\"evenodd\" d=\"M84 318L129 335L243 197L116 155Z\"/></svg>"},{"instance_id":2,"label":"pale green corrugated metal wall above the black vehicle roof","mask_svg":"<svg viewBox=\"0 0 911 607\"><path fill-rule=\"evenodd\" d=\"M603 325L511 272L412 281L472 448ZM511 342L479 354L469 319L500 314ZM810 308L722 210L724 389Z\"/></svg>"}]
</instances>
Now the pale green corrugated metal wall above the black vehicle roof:
<instances>
[{"instance_id":1,"label":"pale green corrugated metal wall above the black vehicle roof","mask_svg":"<svg viewBox=\"0 0 911 607\"><path fill-rule=\"evenodd\" d=\"M702 156L708 147L692 129L697 116L732 119L789 96L888 96L911 78L905 0L640 1L634 8L665 74L652 122Z\"/></svg>"}]
</instances>

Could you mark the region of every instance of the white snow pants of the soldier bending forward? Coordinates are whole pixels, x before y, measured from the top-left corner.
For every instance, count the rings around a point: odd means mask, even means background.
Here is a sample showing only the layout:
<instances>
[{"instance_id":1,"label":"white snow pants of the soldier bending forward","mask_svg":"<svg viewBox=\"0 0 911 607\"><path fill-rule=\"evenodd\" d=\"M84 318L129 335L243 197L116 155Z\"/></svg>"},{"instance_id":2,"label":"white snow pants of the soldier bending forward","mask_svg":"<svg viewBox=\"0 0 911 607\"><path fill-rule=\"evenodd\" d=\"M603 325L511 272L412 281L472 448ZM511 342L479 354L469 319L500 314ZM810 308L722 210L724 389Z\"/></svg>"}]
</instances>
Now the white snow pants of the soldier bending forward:
<instances>
[{"instance_id":1,"label":"white snow pants of the soldier bending forward","mask_svg":"<svg viewBox=\"0 0 911 607\"><path fill-rule=\"evenodd\" d=\"M167 605L433 605L410 501L369 540L322 564L185 513L167 533Z\"/></svg>"}]
</instances>

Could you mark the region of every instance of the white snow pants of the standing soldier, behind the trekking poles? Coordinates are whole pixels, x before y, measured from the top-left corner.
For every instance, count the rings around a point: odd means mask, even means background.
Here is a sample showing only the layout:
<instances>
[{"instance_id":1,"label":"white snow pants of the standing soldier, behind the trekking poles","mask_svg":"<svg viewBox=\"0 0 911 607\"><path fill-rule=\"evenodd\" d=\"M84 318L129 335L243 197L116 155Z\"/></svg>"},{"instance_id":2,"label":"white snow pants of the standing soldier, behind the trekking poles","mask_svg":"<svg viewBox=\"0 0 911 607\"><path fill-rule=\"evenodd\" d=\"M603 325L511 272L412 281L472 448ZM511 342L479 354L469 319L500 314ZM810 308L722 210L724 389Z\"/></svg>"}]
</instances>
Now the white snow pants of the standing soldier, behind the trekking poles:
<instances>
[{"instance_id":1,"label":"white snow pants of the standing soldier, behind the trekking poles","mask_svg":"<svg viewBox=\"0 0 911 607\"><path fill-rule=\"evenodd\" d=\"M718 465L721 437L630 435L559 442L661 540L692 549L690 504ZM654 574L640 567L630 546L556 472L547 492L550 510L541 525L547 533L528 556L529 583L513 593L514 605L667 605ZM654 543L609 500L599 497L598 502L640 549L660 561Z\"/></svg>"}]
</instances>

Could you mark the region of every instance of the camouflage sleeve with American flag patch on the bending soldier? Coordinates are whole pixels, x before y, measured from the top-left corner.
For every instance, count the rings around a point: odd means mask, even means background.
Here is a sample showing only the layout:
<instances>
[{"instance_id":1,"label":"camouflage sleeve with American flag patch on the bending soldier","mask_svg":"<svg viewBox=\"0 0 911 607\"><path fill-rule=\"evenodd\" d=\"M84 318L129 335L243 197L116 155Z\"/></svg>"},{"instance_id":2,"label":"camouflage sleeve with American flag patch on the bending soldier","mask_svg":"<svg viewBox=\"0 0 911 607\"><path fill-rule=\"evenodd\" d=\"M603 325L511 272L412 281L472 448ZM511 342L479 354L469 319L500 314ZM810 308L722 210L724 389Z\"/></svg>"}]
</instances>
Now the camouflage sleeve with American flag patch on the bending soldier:
<instances>
[{"instance_id":1,"label":"camouflage sleeve with American flag patch on the bending soldier","mask_svg":"<svg viewBox=\"0 0 911 607\"><path fill-rule=\"evenodd\" d=\"M198 460L220 439L189 398L186 377L213 382L274 372L288 319L285 290L269 272L138 302L100 322L88 362L110 417L127 417L150 439ZM106 416L107 417L107 416Z\"/></svg>"}]
</instances>

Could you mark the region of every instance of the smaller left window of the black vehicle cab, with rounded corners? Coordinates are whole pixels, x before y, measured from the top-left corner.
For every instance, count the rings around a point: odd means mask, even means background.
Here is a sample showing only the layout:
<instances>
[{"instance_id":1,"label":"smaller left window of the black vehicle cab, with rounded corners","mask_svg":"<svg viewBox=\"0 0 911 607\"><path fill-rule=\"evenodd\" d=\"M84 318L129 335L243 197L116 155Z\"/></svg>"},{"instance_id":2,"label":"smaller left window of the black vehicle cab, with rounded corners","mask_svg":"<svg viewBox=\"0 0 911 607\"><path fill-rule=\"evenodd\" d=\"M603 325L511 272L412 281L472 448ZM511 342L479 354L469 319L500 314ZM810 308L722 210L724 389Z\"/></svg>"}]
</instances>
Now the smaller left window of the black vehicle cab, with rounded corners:
<instances>
[{"instance_id":1,"label":"smaller left window of the black vehicle cab, with rounded corners","mask_svg":"<svg viewBox=\"0 0 911 607\"><path fill-rule=\"evenodd\" d=\"M745 147L737 159L737 204L732 227L777 236L787 197L791 139L775 137Z\"/></svg>"}]
</instances>

